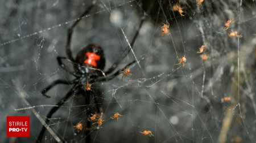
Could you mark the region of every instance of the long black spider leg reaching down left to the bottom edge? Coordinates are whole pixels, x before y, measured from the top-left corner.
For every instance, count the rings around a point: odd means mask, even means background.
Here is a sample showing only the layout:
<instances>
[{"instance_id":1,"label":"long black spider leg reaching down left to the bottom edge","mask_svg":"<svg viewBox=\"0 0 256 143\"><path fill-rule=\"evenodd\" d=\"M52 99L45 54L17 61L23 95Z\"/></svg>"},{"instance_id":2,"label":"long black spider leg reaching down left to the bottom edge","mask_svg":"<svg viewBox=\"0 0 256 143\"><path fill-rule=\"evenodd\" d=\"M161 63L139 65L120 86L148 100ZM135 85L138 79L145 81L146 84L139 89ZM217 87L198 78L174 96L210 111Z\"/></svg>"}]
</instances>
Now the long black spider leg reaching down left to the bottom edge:
<instances>
[{"instance_id":1,"label":"long black spider leg reaching down left to the bottom edge","mask_svg":"<svg viewBox=\"0 0 256 143\"><path fill-rule=\"evenodd\" d=\"M55 107L53 107L47 114L46 116L46 127L43 126L40 133L39 133L39 136L38 136L38 140L36 142L40 143L42 142L42 138L43 138L43 135L44 135L44 132L46 132L46 128L49 128L49 118L51 118L51 116L60 108L60 106L62 106L72 95L74 94L74 89L71 89L69 90L69 92L66 94L66 96L64 98L62 98L57 104Z\"/></svg>"}]
</instances>

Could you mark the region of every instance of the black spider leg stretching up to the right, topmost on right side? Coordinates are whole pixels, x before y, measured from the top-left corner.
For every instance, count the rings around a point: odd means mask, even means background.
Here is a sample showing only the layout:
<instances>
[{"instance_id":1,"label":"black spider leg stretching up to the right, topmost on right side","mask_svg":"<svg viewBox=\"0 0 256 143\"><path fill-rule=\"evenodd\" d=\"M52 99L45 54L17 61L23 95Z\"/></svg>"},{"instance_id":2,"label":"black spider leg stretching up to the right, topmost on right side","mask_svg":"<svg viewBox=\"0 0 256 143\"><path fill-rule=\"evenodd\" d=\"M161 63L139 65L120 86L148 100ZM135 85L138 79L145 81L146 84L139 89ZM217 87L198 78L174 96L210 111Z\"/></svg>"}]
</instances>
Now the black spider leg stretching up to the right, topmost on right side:
<instances>
[{"instance_id":1,"label":"black spider leg stretching up to the right, topmost on right side","mask_svg":"<svg viewBox=\"0 0 256 143\"><path fill-rule=\"evenodd\" d=\"M127 47L129 50L123 50L123 53L121 54L121 56L112 64L112 66L108 69L108 71L105 72L106 74L113 72L115 70L115 68L117 68L118 64L123 60L123 58L125 58L126 55L129 54L131 50L133 50L135 41L139 34L139 30L141 29L145 18L146 18L146 16L142 17L141 23L139 24L139 28L138 28L137 32L135 33L133 40L130 43L131 49Z\"/></svg>"}]
</instances>

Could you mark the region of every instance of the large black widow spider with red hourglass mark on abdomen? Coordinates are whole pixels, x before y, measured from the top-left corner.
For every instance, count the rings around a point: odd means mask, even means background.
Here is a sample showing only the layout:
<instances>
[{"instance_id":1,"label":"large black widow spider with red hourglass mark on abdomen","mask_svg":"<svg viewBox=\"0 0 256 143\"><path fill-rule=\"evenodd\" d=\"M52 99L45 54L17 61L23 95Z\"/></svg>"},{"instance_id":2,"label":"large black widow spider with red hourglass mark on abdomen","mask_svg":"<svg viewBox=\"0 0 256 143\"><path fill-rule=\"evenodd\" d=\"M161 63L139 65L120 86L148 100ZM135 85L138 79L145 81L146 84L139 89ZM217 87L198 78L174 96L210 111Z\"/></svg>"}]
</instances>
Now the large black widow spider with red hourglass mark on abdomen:
<instances>
[{"instance_id":1,"label":"large black widow spider with red hourglass mark on abdomen","mask_svg":"<svg viewBox=\"0 0 256 143\"><path fill-rule=\"evenodd\" d=\"M65 95L64 98L62 98L56 106L54 106L47 114L45 123L39 133L39 136L37 138L37 142L42 142L42 138L44 136L44 132L46 131L46 128L49 128L49 119L51 116L73 95L73 94L83 94L85 96L85 105L90 104L90 95L92 95L93 90L85 90L86 84L94 84L98 82L103 81L109 81L112 80L115 76L118 76L123 70L125 70L127 67L131 66L135 63L135 61L127 64L124 68L121 70L115 69L118 67L118 64L122 61L123 58L126 57L127 54L129 54L130 50L124 50L120 57L112 64L112 66L107 70L103 71L105 67L105 56L103 49L98 46L97 44L90 44L77 53L76 58L74 59L72 57L72 51L71 51L71 38L73 29L76 27L76 25L79 23L79 21L88 14L88 12L93 8L95 5L95 1L93 1L92 5L84 11L84 13L75 21L75 23L72 24L70 28L68 28L68 35L67 35L67 44L65 46L66 57L57 57L57 62L59 63L60 67L63 68L63 70L67 71L71 75L75 76L75 79L72 81L67 80L56 80L53 81L52 84L48 85L45 89L42 90L42 95L50 98L46 95L48 90L50 90L53 86L57 84L66 84L66 85L72 85L72 88L69 90L69 92ZM144 21L144 16L141 20L141 23L139 24L139 28L137 32L135 33L135 36L133 37L133 40L130 43L131 48L133 48L135 40L139 34L139 29L142 27L142 23ZM130 49L130 48L129 48ZM73 64L74 72L70 71L65 64L62 62L63 59L69 60ZM113 73L114 72L114 73ZM102 109L100 107L101 103L97 98L93 98L96 111L98 113L102 112ZM92 114L92 112L89 110L88 115ZM90 128L91 123L89 121L86 122L86 128ZM85 131L85 137L86 142L90 142L90 131ZM64 139L62 140L64 141Z\"/></svg>"}]
</instances>

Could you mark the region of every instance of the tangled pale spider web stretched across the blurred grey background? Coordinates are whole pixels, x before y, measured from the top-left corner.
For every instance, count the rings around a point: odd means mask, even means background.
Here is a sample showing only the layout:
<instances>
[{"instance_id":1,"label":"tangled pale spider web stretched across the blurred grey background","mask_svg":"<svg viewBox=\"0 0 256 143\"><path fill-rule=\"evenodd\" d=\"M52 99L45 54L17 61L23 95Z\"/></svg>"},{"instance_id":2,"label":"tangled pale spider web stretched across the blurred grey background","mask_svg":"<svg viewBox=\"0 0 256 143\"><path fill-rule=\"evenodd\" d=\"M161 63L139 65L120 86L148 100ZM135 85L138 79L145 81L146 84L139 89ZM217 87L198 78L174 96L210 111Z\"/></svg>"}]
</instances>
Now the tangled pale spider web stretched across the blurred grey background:
<instances>
[{"instance_id":1,"label":"tangled pale spider web stretched across the blurred grey background","mask_svg":"<svg viewBox=\"0 0 256 143\"><path fill-rule=\"evenodd\" d=\"M72 52L97 43L105 52L108 69L146 16L133 50L118 69L129 67L132 75L93 84L92 98L101 98L104 122L90 133L91 142L255 142L255 14L254 1L179 1L184 15L170 10L177 1L100 0L75 28ZM47 94L40 91L57 79L73 77L60 69L56 57L66 57L68 27L92 1L1 2L0 72L2 124L6 116L30 116L29 138L1 142L35 142L49 110L71 85L57 85ZM234 19L228 30L224 23ZM170 34L161 27L170 23ZM237 31L242 38L229 37ZM201 59L197 53L207 46ZM184 66L179 58L185 57ZM72 63L65 64L72 69ZM230 101L225 102L225 97ZM95 107L91 102L90 107ZM122 116L110 117L114 112ZM88 120L85 98L73 94L55 112L43 142L85 142ZM73 127L84 124L77 132ZM94 123L94 122L92 122ZM46 125L46 124L44 124ZM95 124L92 125L95 127ZM154 136L144 136L149 130ZM5 125L1 131L6 132ZM241 141L240 141L241 140Z\"/></svg>"}]
</instances>

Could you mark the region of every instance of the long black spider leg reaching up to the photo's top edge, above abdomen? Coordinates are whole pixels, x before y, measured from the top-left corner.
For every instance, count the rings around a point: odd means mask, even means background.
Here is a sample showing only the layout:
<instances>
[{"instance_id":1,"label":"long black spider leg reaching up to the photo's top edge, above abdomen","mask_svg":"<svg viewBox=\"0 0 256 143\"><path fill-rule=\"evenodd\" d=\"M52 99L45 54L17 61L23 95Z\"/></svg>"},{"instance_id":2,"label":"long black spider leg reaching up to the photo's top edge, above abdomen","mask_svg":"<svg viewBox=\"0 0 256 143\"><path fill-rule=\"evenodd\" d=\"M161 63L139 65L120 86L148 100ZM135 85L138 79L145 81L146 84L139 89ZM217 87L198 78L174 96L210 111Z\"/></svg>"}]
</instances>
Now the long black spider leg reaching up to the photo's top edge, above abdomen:
<instances>
[{"instance_id":1,"label":"long black spider leg reaching up to the photo's top edge, above abdomen","mask_svg":"<svg viewBox=\"0 0 256 143\"><path fill-rule=\"evenodd\" d=\"M95 5L96 1L93 1L92 5L87 8L87 10L84 11L84 13L82 13L79 18L75 21L75 23L72 24L71 27L68 28L68 36L67 36L67 44L66 44L66 53L68 56L68 59L70 59L72 62L75 62L75 59L72 56L72 51L71 51L71 38L72 38L72 34L73 34L73 29L76 27L77 23L79 23L79 21L85 17L86 14L88 14L88 12L92 9L92 7Z\"/></svg>"}]
</instances>

